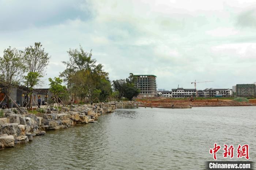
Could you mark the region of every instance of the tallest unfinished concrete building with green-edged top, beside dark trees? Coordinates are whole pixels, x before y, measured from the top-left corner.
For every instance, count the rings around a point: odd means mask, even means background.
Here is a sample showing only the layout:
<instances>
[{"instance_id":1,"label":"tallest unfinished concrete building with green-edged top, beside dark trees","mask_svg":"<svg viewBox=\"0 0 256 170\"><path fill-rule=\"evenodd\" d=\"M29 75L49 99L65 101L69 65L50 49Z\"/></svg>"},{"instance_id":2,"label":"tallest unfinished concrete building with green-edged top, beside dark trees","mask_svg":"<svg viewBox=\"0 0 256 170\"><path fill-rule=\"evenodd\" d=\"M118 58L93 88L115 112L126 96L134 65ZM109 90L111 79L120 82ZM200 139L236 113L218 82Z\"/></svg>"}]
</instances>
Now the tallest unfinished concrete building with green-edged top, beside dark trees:
<instances>
[{"instance_id":1,"label":"tallest unfinished concrete building with green-edged top, beside dark trees","mask_svg":"<svg viewBox=\"0 0 256 170\"><path fill-rule=\"evenodd\" d=\"M134 75L137 77L134 86L140 89L139 97L157 97L157 82L155 75Z\"/></svg>"}]
</instances>

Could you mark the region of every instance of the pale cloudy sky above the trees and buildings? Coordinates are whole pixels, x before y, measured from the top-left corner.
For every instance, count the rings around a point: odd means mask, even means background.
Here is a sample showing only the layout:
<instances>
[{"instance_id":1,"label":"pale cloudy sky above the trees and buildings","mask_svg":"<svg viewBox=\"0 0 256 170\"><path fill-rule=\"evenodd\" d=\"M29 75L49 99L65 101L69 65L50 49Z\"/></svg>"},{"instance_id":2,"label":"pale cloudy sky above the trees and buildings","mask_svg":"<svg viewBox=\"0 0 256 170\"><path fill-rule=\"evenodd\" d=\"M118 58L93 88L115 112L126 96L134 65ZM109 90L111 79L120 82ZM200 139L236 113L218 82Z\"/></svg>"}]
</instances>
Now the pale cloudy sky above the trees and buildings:
<instances>
[{"instance_id":1,"label":"pale cloudy sky above the trees and buildings","mask_svg":"<svg viewBox=\"0 0 256 170\"><path fill-rule=\"evenodd\" d=\"M110 80L154 74L158 89L256 82L255 0L0 0L0 56L41 42L42 88L69 48L93 49Z\"/></svg>"}]
</instances>

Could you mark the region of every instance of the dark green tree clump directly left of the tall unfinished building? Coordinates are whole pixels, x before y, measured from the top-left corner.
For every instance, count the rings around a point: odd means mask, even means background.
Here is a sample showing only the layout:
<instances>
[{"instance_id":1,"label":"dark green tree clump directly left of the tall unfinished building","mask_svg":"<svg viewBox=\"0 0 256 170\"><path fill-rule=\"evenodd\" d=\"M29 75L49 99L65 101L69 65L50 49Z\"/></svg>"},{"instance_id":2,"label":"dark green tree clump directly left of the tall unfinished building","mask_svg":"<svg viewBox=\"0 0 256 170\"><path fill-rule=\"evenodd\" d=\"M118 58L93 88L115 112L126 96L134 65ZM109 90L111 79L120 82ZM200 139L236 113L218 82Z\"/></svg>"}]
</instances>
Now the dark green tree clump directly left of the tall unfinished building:
<instances>
[{"instance_id":1,"label":"dark green tree clump directly left of the tall unfinished building","mask_svg":"<svg viewBox=\"0 0 256 170\"><path fill-rule=\"evenodd\" d=\"M130 76L124 79L120 80L114 80L113 81L113 87L114 90L118 91L118 98L128 98L129 100L132 100L133 97L138 96L140 94L140 89L134 87L134 82L136 80L136 76L134 76L132 73L130 73Z\"/></svg>"}]
</instances>

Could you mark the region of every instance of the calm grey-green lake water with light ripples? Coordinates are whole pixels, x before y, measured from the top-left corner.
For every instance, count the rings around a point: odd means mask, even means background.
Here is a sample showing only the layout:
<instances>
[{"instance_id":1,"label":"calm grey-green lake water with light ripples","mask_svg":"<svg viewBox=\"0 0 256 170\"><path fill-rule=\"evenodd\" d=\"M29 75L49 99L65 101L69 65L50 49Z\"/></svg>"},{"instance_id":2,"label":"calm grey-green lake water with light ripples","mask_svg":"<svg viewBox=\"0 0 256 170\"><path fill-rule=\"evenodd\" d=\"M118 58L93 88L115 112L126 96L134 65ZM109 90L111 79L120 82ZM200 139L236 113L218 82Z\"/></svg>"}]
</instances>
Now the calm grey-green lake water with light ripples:
<instances>
[{"instance_id":1,"label":"calm grey-green lake water with light ripples","mask_svg":"<svg viewBox=\"0 0 256 170\"><path fill-rule=\"evenodd\" d=\"M255 161L255 125L256 107L119 109L0 151L0 169L204 169L215 142L248 143Z\"/></svg>"}]
</instances>

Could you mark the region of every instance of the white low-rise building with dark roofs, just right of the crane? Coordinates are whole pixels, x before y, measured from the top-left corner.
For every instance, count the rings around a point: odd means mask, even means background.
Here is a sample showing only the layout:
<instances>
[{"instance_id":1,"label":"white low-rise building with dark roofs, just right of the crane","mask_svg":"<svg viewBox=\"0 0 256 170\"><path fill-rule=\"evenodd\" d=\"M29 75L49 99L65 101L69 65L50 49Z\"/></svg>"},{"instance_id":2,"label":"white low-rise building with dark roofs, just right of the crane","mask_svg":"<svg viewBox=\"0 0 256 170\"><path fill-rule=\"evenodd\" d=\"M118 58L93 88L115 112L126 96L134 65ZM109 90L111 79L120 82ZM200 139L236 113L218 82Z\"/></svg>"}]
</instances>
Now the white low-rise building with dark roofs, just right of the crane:
<instances>
[{"instance_id":1,"label":"white low-rise building with dark roofs, just right of the crane","mask_svg":"<svg viewBox=\"0 0 256 170\"><path fill-rule=\"evenodd\" d=\"M216 95L223 96L223 97L230 97L232 96L233 92L232 89L214 89L214 88L207 88L203 90L204 97L215 97Z\"/></svg>"}]
</instances>

